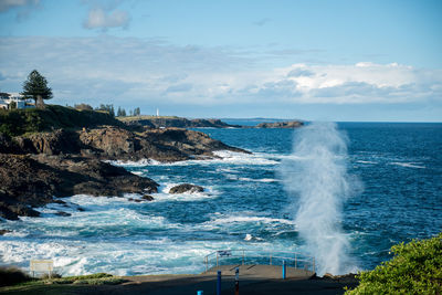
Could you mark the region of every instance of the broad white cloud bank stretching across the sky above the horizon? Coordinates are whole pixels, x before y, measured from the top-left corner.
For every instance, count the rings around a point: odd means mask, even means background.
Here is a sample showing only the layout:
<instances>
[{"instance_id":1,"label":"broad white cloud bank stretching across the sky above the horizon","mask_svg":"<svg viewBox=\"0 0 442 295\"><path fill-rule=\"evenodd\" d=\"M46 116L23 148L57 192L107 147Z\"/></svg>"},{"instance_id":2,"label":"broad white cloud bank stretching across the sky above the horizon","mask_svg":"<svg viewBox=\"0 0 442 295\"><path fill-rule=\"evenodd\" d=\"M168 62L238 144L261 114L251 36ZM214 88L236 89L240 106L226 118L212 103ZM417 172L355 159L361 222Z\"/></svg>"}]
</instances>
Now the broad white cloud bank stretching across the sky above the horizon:
<instances>
[{"instance_id":1,"label":"broad white cloud bank stretching across the sky above the horizon","mask_svg":"<svg viewBox=\"0 0 442 295\"><path fill-rule=\"evenodd\" d=\"M225 48L177 46L161 40L0 39L0 88L20 91L33 69L55 97L227 104L370 104L442 102L442 71L401 64L293 64L267 69Z\"/></svg>"}]
</instances>

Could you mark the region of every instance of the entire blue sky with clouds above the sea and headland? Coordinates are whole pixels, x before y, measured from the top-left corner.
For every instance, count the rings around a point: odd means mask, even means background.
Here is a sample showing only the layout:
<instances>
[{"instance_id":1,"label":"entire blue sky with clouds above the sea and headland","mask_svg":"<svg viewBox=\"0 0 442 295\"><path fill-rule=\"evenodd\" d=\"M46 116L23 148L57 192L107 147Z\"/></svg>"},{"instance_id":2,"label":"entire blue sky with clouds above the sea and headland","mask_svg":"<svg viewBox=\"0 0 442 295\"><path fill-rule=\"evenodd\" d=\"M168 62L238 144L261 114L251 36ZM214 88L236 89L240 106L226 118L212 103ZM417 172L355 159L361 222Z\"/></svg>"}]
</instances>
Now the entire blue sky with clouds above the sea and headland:
<instances>
[{"instance_id":1,"label":"entire blue sky with clouds above the sea and headland","mask_svg":"<svg viewBox=\"0 0 442 295\"><path fill-rule=\"evenodd\" d=\"M0 91L143 114L441 122L442 1L0 0Z\"/></svg>"}]
</instances>

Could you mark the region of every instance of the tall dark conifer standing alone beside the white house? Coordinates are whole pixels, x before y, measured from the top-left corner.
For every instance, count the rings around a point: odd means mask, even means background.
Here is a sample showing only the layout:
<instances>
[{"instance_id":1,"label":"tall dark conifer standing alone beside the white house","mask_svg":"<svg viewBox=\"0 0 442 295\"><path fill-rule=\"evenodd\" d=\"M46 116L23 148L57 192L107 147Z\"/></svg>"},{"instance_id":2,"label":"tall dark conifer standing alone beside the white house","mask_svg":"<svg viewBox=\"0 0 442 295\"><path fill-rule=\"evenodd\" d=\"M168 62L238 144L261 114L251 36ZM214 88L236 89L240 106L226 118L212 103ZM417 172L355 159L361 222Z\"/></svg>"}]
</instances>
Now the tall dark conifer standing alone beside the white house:
<instances>
[{"instance_id":1,"label":"tall dark conifer standing alone beside the white house","mask_svg":"<svg viewBox=\"0 0 442 295\"><path fill-rule=\"evenodd\" d=\"M28 75L28 80L23 82L23 92L25 98L30 97L35 101L35 107L44 108L43 99L52 98L52 89L48 87L48 81L44 76L34 70Z\"/></svg>"}]
</instances>

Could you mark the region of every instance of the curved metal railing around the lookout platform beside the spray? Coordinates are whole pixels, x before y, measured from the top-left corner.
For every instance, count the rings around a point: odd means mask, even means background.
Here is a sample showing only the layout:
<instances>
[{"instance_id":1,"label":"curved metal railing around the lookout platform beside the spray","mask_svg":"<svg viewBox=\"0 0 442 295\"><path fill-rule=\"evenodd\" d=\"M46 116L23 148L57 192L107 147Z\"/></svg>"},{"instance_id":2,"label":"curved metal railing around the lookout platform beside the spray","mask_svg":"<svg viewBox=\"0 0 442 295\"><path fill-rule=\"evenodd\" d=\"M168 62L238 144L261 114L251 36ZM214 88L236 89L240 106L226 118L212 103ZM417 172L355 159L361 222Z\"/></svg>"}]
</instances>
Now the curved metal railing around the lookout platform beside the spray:
<instances>
[{"instance_id":1,"label":"curved metal railing around the lookout platform beside the spray","mask_svg":"<svg viewBox=\"0 0 442 295\"><path fill-rule=\"evenodd\" d=\"M315 257L305 255L301 252L282 251L255 251L255 250L218 250L204 256L206 272L213 266L225 264L269 264L282 265L285 261L287 266L304 268L312 272L316 271Z\"/></svg>"}]
</instances>

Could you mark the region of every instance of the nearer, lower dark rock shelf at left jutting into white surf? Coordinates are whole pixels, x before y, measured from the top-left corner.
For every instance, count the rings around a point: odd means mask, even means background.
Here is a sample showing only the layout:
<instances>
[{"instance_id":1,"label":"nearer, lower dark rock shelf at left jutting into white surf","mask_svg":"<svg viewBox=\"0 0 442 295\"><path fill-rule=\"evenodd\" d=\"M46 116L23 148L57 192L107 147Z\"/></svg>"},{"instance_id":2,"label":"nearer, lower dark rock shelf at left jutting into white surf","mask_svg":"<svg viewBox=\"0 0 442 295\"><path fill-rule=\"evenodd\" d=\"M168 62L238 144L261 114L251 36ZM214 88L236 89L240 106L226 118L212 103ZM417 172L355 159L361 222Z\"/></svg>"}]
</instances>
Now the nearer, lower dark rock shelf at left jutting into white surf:
<instances>
[{"instance_id":1,"label":"nearer, lower dark rock shelf at left jutting into white surf","mask_svg":"<svg viewBox=\"0 0 442 295\"><path fill-rule=\"evenodd\" d=\"M32 208L54 202L53 196L150 193L158 187L124 168L78 156L0 154L0 217L10 220L38 217Z\"/></svg>"}]
</instances>

